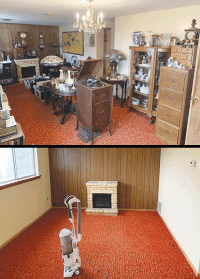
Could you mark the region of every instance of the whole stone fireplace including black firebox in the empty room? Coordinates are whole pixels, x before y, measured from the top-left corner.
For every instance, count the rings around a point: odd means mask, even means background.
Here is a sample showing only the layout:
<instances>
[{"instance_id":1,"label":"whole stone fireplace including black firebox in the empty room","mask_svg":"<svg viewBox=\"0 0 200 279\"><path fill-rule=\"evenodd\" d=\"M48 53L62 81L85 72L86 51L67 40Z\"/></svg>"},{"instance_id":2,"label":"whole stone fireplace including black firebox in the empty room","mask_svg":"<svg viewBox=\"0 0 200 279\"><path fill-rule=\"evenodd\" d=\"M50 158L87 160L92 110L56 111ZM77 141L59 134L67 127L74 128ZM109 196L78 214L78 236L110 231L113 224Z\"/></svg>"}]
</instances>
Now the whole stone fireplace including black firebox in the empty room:
<instances>
[{"instance_id":1,"label":"whole stone fireplace including black firebox in the empty room","mask_svg":"<svg viewBox=\"0 0 200 279\"><path fill-rule=\"evenodd\" d=\"M117 209L117 181L87 181L87 214L115 216Z\"/></svg>"}]
</instances>

